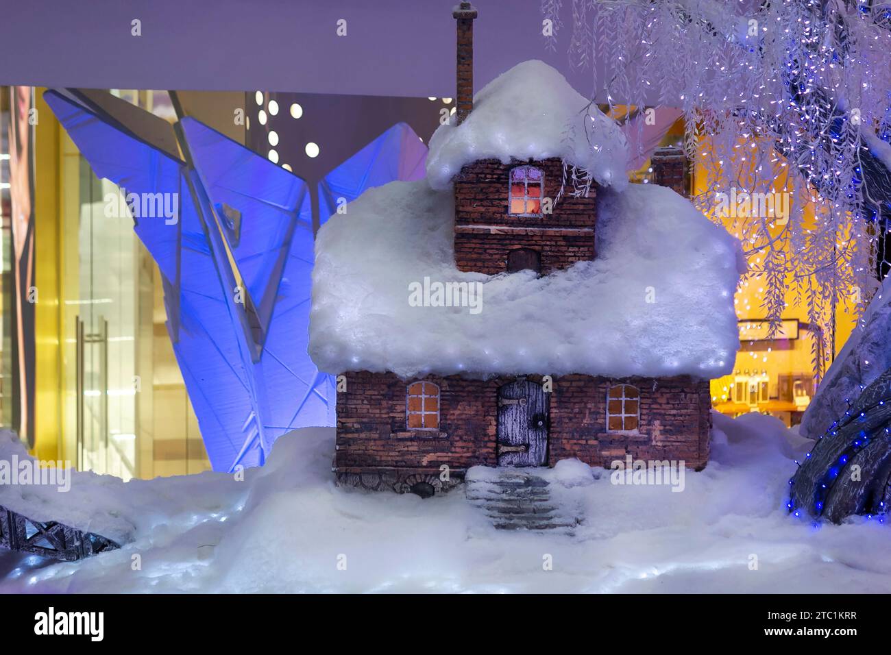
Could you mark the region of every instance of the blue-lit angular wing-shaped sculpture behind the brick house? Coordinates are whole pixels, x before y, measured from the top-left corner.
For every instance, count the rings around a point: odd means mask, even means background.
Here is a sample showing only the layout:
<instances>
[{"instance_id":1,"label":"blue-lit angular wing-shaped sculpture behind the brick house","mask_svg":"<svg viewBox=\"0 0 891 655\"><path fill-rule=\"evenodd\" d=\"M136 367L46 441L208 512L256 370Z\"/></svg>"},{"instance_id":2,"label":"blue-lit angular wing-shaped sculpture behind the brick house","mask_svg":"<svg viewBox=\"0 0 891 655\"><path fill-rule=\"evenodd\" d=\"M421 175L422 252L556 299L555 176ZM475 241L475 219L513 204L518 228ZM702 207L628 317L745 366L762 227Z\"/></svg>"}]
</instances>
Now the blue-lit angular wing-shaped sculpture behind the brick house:
<instances>
[{"instance_id":1,"label":"blue-lit angular wing-shaped sculpture behind the brick house","mask_svg":"<svg viewBox=\"0 0 891 655\"><path fill-rule=\"evenodd\" d=\"M307 184L196 119L168 135L166 124L142 129L135 108L110 96L44 98L97 176L127 194L176 193L175 223L135 216L134 230L158 263L168 333L214 470L262 465L282 434L334 425L334 380L307 355ZM426 155L411 127L391 127L319 184L322 220L339 198L419 179Z\"/></svg>"}]
</instances>

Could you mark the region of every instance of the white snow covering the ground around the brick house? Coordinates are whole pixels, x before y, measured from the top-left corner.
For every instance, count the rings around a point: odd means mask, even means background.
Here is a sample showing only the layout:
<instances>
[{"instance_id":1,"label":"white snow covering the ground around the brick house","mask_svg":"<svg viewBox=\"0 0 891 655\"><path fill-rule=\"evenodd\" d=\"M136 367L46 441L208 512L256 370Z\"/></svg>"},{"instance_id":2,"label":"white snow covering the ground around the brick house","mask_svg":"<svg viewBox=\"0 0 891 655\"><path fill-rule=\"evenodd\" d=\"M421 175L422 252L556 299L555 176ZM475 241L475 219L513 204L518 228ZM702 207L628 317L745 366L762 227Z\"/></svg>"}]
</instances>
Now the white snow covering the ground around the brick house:
<instances>
[{"instance_id":1,"label":"white snow covering the ground around the brick house","mask_svg":"<svg viewBox=\"0 0 891 655\"><path fill-rule=\"evenodd\" d=\"M0 504L132 539L78 563L2 553L0 592L891 591L889 526L815 528L784 511L809 442L769 417L716 415L712 462L681 493L613 485L580 463L549 471L553 495L581 507L574 536L496 531L460 488L423 500L335 487L332 440L282 437L244 481L77 474L68 494L0 487ZM0 459L23 456L4 441Z\"/></svg>"}]
</instances>

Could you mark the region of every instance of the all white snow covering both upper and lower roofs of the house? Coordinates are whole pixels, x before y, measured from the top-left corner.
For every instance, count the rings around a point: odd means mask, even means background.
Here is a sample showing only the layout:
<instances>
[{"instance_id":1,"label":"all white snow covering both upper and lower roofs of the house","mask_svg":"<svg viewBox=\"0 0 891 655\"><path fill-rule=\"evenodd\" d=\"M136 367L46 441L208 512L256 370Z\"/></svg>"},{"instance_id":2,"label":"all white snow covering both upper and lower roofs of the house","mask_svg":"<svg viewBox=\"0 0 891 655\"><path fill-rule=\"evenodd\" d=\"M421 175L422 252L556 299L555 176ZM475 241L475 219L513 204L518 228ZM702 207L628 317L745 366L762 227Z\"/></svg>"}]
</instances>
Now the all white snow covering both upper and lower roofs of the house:
<instances>
[{"instance_id":1,"label":"all white snow covering both upper and lower roofs of the house","mask_svg":"<svg viewBox=\"0 0 891 655\"><path fill-rule=\"evenodd\" d=\"M492 157L587 169L602 187L597 258L541 278L458 271L451 180ZM319 231L313 361L403 378L729 373L739 242L677 193L627 184L626 160L616 122L557 70L526 61L496 78L460 126L437 129L427 179L372 188Z\"/></svg>"}]
</instances>

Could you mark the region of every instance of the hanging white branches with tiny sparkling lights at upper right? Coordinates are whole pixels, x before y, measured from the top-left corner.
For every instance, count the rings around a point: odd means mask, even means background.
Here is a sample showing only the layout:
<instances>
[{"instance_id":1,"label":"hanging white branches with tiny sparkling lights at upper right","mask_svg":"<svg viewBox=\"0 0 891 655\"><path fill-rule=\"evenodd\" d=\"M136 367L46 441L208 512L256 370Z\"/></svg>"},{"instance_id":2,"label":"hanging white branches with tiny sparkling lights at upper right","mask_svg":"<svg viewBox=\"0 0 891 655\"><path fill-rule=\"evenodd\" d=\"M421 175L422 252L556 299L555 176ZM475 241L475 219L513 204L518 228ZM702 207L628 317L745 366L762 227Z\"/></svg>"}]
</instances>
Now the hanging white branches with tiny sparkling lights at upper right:
<instances>
[{"instance_id":1,"label":"hanging white branches with tiny sparkling lights at upper right","mask_svg":"<svg viewBox=\"0 0 891 655\"><path fill-rule=\"evenodd\" d=\"M706 171L700 209L715 217L716 194L731 190L789 194L787 217L740 217L732 229L772 325L791 291L823 327L822 370L835 346L830 316L840 304L862 310L887 272L891 2L568 4L570 64L592 71L598 102L683 111L686 151ZM544 2L545 17L559 23L561 5Z\"/></svg>"}]
</instances>

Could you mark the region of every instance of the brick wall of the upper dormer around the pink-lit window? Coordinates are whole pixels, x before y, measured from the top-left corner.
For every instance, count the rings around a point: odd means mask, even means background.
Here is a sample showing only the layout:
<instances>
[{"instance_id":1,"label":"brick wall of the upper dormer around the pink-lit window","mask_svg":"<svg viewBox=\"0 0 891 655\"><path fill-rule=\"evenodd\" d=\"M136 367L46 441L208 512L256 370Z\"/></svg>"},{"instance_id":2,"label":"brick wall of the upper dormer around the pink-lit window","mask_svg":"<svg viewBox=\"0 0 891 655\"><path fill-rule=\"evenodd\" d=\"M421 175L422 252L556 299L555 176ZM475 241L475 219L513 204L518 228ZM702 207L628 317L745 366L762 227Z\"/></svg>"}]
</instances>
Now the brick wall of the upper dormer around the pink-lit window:
<instances>
[{"instance_id":1,"label":"brick wall of the upper dormer around the pink-lit window","mask_svg":"<svg viewBox=\"0 0 891 655\"><path fill-rule=\"evenodd\" d=\"M462 271L503 273L508 252L530 248L541 253L541 274L593 259L597 218L595 191L586 198L564 196L552 213L541 217L508 214L511 168L531 163L544 171L544 197L560 192L563 163L479 160L462 168L454 179L454 258Z\"/></svg>"}]
</instances>

